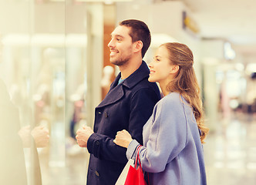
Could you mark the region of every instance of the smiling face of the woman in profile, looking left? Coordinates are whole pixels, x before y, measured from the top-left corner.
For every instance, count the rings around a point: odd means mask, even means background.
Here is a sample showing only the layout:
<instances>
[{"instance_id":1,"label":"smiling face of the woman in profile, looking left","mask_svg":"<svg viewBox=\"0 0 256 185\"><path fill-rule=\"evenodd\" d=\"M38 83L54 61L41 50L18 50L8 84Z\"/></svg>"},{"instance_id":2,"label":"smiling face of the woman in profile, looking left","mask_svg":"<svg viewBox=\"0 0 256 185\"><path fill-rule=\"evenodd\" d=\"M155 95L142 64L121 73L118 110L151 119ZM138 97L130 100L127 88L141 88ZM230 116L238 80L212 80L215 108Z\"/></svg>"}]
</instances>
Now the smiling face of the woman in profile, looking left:
<instances>
[{"instance_id":1,"label":"smiling face of the woman in profile, looking left","mask_svg":"<svg viewBox=\"0 0 256 185\"><path fill-rule=\"evenodd\" d=\"M157 49L155 56L153 57L153 62L150 62L150 82L164 82L170 81L170 72L173 67L169 59L169 52L165 46L160 46Z\"/></svg>"}]
</instances>

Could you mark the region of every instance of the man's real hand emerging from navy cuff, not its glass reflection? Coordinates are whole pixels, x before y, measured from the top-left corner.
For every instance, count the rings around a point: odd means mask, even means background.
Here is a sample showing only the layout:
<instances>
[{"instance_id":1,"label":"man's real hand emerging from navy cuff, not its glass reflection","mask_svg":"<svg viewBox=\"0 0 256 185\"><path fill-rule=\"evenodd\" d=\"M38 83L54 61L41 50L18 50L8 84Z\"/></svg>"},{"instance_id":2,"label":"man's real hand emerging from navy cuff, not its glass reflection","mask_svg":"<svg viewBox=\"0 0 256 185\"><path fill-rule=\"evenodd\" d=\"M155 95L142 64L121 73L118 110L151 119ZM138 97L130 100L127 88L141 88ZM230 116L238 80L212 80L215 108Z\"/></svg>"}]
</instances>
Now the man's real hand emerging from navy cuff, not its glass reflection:
<instances>
[{"instance_id":1,"label":"man's real hand emerging from navy cuff, not its glass reflection","mask_svg":"<svg viewBox=\"0 0 256 185\"><path fill-rule=\"evenodd\" d=\"M76 132L76 140L80 147L87 147L87 141L89 136L93 134L93 130L89 126L83 126L83 129L79 129Z\"/></svg>"}]
</instances>

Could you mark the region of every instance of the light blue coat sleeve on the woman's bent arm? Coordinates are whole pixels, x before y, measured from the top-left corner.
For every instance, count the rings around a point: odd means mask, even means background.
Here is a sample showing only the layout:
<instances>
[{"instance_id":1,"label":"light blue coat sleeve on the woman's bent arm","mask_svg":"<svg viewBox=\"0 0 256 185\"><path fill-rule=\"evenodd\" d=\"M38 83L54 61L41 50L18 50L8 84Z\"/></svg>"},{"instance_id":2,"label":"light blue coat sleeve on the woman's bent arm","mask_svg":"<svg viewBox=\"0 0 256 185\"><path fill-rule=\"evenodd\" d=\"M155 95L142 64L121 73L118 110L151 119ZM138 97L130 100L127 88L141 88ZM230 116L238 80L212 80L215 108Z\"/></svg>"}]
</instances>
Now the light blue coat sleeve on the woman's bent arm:
<instances>
[{"instance_id":1,"label":"light blue coat sleeve on the woman's bent arm","mask_svg":"<svg viewBox=\"0 0 256 185\"><path fill-rule=\"evenodd\" d=\"M183 106L177 101L157 104L153 111L153 123L150 124L149 140L140 150L140 161L143 170L159 173L186 145L187 121ZM133 145L128 147L128 151L134 149Z\"/></svg>"}]
</instances>

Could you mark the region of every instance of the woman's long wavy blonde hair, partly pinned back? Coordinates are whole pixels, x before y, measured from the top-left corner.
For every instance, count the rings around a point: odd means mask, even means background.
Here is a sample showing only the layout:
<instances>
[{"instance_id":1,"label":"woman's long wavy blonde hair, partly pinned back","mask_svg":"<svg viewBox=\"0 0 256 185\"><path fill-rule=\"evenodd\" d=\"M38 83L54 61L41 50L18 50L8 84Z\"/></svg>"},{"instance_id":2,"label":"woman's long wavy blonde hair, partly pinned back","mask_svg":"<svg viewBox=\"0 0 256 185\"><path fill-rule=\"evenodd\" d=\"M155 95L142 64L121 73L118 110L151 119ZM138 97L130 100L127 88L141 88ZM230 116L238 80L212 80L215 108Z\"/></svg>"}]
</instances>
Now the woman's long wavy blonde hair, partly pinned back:
<instances>
[{"instance_id":1,"label":"woman's long wavy blonde hair, partly pinned back","mask_svg":"<svg viewBox=\"0 0 256 185\"><path fill-rule=\"evenodd\" d=\"M177 42L168 42L160 46L166 47L170 61L180 68L177 76L167 85L167 89L170 92L180 93L192 106L197 126L201 131L200 140L201 143L204 143L209 129L204 126L204 110L200 98L200 88L193 68L193 53L187 45Z\"/></svg>"}]
</instances>

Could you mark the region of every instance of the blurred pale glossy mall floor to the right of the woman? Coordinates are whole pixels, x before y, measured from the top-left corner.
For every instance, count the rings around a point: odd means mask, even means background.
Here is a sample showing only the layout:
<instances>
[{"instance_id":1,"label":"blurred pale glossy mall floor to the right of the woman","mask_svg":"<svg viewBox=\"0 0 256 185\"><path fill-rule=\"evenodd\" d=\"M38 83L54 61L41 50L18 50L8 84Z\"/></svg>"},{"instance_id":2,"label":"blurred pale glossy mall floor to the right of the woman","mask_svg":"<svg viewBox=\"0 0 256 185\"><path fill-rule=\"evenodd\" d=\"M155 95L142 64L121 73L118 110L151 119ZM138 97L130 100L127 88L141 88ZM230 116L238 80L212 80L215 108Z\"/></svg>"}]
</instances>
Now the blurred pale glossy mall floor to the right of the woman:
<instances>
[{"instance_id":1,"label":"blurred pale glossy mall floor to the right of the woman","mask_svg":"<svg viewBox=\"0 0 256 185\"><path fill-rule=\"evenodd\" d=\"M217 123L204 155L207 184L256 184L256 115L236 113Z\"/></svg>"}]
</instances>

